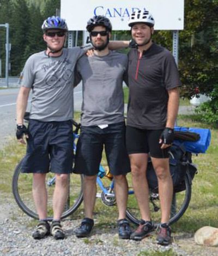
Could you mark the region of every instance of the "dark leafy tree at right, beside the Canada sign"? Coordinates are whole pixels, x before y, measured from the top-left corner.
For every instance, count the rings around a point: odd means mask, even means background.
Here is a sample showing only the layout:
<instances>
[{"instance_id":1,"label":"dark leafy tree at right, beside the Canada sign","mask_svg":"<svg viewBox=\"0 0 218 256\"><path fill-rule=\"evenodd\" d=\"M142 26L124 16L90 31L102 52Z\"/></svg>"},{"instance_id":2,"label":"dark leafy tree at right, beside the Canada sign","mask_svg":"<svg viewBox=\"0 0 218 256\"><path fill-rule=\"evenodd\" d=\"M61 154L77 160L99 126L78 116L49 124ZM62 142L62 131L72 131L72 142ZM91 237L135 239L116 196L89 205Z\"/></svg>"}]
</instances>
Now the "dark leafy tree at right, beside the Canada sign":
<instances>
[{"instance_id":1,"label":"dark leafy tree at right, beside the Canada sign","mask_svg":"<svg viewBox=\"0 0 218 256\"><path fill-rule=\"evenodd\" d=\"M217 13L217 0L185 0L185 27L179 32L179 72L184 97L199 92L208 95L218 81ZM172 49L171 32L159 31L154 38Z\"/></svg>"}]
</instances>

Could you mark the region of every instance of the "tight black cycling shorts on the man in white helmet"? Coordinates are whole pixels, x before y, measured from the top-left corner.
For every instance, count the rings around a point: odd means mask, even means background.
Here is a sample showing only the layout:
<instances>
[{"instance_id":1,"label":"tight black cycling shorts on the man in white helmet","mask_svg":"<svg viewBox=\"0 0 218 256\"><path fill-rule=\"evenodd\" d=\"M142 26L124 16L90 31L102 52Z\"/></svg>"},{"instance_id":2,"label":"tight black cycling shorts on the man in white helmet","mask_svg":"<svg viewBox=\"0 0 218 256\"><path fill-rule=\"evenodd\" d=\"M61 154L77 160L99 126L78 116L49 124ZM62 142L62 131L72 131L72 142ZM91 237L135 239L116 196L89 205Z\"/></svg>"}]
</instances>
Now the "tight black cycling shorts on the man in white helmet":
<instances>
[{"instance_id":1,"label":"tight black cycling shorts on the man in white helmet","mask_svg":"<svg viewBox=\"0 0 218 256\"><path fill-rule=\"evenodd\" d=\"M159 139L163 130L143 130L126 126L126 148L128 154L150 153L153 158L169 158L169 147L161 149Z\"/></svg>"}]
</instances>

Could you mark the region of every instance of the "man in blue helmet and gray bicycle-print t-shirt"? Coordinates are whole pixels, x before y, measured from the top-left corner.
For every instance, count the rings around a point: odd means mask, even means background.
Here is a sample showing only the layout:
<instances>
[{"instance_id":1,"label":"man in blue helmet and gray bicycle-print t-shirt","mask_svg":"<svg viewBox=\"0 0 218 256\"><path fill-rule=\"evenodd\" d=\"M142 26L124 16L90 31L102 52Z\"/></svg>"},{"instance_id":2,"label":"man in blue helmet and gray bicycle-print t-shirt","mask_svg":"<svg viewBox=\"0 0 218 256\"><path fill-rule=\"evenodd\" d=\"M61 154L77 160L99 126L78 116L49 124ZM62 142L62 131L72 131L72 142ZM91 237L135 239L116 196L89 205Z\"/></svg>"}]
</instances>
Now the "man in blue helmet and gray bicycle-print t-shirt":
<instances>
[{"instance_id":1,"label":"man in blue helmet and gray bicycle-print t-shirt","mask_svg":"<svg viewBox=\"0 0 218 256\"><path fill-rule=\"evenodd\" d=\"M52 16L43 23L47 49L27 60L21 75L17 97L17 139L25 144L27 153L22 172L33 173L33 199L39 215L35 239L50 232L56 239L64 238L60 217L68 196L68 176L72 171L73 82L76 61L83 55L80 48L63 49L68 30L63 19ZM28 129L23 125L29 92L32 89ZM47 172L55 173L53 222L47 222Z\"/></svg>"}]
</instances>

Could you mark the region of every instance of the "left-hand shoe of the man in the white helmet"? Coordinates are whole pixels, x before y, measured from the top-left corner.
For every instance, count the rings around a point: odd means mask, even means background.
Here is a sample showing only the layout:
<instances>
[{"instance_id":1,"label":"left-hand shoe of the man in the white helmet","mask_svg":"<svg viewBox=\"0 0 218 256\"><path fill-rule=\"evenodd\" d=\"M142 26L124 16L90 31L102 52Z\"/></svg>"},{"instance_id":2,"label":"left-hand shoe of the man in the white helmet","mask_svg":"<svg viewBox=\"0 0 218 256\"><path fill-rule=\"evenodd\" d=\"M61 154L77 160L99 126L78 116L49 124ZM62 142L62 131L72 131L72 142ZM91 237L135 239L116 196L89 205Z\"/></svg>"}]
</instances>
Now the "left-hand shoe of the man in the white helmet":
<instances>
[{"instance_id":1,"label":"left-hand shoe of the man in the white helmet","mask_svg":"<svg viewBox=\"0 0 218 256\"><path fill-rule=\"evenodd\" d=\"M154 231L154 224L151 221L141 220L138 228L132 232L130 239L140 241Z\"/></svg>"}]
</instances>

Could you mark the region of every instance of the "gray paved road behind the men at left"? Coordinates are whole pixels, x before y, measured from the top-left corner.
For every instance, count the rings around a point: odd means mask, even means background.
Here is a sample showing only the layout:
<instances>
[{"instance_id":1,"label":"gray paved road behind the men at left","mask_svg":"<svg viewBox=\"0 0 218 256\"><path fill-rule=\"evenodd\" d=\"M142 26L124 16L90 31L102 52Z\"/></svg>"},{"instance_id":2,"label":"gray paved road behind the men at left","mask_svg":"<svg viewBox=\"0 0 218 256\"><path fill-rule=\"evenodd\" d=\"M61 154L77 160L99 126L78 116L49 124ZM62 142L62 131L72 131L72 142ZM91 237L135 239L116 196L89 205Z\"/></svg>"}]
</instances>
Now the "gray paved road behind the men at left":
<instances>
[{"instance_id":1,"label":"gray paved road behind the men at left","mask_svg":"<svg viewBox=\"0 0 218 256\"><path fill-rule=\"evenodd\" d=\"M7 142L10 136L14 136L16 127L16 97L19 88L0 90L0 148ZM82 89L81 84L74 90L75 110L81 110ZM30 108L28 103L27 110Z\"/></svg>"}]
</instances>

